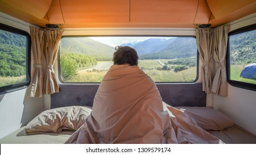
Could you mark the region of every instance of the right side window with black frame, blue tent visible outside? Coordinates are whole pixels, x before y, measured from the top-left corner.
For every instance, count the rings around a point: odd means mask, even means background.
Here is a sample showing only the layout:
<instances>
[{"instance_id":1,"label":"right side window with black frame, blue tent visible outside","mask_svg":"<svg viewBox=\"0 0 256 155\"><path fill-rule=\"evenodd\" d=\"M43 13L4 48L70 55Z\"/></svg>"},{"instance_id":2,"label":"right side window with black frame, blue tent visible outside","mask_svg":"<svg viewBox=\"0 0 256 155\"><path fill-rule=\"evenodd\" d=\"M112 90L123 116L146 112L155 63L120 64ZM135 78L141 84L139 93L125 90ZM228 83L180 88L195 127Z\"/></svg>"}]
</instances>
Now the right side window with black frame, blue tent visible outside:
<instances>
[{"instance_id":1,"label":"right side window with black frame, blue tent visible outside","mask_svg":"<svg viewBox=\"0 0 256 155\"><path fill-rule=\"evenodd\" d=\"M256 25L229 33L227 62L231 85L256 90Z\"/></svg>"}]
</instances>

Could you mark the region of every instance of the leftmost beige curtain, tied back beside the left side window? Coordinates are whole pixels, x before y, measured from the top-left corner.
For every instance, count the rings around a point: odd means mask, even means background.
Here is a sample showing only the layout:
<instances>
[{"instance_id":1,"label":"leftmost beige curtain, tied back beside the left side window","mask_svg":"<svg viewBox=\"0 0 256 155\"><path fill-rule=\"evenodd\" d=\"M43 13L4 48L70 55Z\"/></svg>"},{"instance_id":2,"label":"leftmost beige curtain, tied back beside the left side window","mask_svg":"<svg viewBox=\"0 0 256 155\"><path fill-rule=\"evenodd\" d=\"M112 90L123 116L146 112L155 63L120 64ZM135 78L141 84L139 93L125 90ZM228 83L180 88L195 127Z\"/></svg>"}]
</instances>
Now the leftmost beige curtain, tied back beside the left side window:
<instances>
[{"instance_id":1,"label":"leftmost beige curtain, tied back beside the left side window","mask_svg":"<svg viewBox=\"0 0 256 155\"><path fill-rule=\"evenodd\" d=\"M32 89L30 91L31 97L43 96L43 71L42 71L42 57L43 57L43 30L35 27L30 27L30 36L32 44L33 64L33 79Z\"/></svg>"}]
</instances>

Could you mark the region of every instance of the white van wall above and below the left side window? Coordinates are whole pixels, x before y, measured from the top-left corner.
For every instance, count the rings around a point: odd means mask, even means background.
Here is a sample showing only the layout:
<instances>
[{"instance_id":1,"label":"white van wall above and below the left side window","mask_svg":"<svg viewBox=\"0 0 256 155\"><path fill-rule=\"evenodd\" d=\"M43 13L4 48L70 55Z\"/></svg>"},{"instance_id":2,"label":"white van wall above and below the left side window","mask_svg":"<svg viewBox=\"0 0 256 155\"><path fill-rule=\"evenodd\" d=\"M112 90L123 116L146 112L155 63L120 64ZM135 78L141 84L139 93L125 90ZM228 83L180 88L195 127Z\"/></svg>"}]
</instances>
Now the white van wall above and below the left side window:
<instances>
[{"instance_id":1,"label":"white van wall above and below the left side window","mask_svg":"<svg viewBox=\"0 0 256 155\"><path fill-rule=\"evenodd\" d=\"M0 13L3 24L25 30L29 33L29 25L15 18ZM30 97L31 87L0 95L0 138L27 125L35 116L43 111L43 98Z\"/></svg>"}]
</instances>

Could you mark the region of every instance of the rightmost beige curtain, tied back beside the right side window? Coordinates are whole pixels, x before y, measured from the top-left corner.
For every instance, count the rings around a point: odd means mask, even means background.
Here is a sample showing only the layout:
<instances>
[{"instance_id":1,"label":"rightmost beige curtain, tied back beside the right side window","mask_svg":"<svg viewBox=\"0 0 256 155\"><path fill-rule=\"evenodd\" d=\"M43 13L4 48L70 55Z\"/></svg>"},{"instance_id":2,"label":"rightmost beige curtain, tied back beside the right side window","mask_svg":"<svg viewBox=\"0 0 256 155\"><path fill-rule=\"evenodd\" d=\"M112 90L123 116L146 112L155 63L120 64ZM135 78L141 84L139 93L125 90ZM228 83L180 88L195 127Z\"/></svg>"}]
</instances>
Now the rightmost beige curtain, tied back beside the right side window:
<instances>
[{"instance_id":1,"label":"rightmost beige curtain, tied back beside the right side window","mask_svg":"<svg viewBox=\"0 0 256 155\"><path fill-rule=\"evenodd\" d=\"M213 58L218 64L212 83L212 92L227 96L226 53L228 43L229 25L214 29Z\"/></svg>"}]
</instances>

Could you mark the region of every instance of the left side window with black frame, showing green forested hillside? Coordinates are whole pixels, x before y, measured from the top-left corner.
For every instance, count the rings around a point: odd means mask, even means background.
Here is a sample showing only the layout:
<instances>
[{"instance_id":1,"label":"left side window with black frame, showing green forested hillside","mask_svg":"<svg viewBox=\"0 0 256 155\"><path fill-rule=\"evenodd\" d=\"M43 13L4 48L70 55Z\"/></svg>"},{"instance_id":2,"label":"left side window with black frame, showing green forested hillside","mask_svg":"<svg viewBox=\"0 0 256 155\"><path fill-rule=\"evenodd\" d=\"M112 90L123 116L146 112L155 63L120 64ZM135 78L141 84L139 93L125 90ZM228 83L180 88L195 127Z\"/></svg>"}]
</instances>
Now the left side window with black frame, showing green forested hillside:
<instances>
[{"instance_id":1,"label":"left side window with black frame, showing green forested hillside","mask_svg":"<svg viewBox=\"0 0 256 155\"><path fill-rule=\"evenodd\" d=\"M0 24L0 93L29 84L30 37Z\"/></svg>"}]
</instances>

